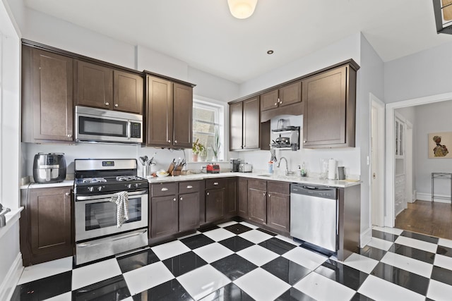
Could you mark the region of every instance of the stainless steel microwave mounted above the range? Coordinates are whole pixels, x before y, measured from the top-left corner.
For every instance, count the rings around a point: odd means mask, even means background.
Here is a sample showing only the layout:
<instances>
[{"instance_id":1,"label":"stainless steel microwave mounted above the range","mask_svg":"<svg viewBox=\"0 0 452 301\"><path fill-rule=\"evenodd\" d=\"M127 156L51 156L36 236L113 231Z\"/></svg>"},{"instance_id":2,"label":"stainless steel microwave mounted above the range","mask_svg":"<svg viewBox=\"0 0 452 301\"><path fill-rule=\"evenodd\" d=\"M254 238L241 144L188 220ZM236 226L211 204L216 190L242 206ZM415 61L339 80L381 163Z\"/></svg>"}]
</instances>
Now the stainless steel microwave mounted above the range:
<instances>
[{"instance_id":1,"label":"stainless steel microwave mounted above the range","mask_svg":"<svg viewBox=\"0 0 452 301\"><path fill-rule=\"evenodd\" d=\"M77 142L143 142L143 116L76 106Z\"/></svg>"}]
</instances>

